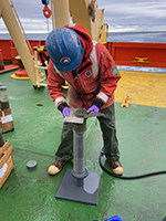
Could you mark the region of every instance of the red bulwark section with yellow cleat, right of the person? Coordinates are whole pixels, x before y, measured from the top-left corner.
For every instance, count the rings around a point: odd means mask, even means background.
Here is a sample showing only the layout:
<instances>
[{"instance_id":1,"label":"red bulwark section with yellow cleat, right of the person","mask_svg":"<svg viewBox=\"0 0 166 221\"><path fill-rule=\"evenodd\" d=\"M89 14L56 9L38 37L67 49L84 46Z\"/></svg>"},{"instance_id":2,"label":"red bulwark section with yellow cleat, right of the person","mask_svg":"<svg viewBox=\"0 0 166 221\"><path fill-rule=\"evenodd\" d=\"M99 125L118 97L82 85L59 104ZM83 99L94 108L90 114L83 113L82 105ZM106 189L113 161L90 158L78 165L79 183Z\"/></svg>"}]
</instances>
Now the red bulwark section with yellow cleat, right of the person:
<instances>
[{"instance_id":1,"label":"red bulwark section with yellow cleat, right of the person","mask_svg":"<svg viewBox=\"0 0 166 221\"><path fill-rule=\"evenodd\" d=\"M106 46L117 65L166 69L166 43L108 42Z\"/></svg>"}]
</instances>

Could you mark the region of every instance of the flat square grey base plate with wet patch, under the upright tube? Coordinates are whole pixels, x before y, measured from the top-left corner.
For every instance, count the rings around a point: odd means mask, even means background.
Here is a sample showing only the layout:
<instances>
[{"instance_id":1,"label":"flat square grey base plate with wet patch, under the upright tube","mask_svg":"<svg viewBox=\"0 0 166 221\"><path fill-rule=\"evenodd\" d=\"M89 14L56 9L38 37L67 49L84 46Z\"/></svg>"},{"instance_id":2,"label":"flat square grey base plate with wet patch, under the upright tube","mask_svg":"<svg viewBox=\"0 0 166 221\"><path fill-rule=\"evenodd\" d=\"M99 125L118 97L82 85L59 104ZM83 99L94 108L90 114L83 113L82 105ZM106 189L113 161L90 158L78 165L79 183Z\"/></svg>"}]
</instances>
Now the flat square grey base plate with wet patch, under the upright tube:
<instances>
[{"instance_id":1,"label":"flat square grey base plate with wet patch, under the upright tube","mask_svg":"<svg viewBox=\"0 0 166 221\"><path fill-rule=\"evenodd\" d=\"M68 169L55 198L96 206L100 181L101 173L89 172L89 176L84 179L84 185L79 187L71 169Z\"/></svg>"}]
</instances>

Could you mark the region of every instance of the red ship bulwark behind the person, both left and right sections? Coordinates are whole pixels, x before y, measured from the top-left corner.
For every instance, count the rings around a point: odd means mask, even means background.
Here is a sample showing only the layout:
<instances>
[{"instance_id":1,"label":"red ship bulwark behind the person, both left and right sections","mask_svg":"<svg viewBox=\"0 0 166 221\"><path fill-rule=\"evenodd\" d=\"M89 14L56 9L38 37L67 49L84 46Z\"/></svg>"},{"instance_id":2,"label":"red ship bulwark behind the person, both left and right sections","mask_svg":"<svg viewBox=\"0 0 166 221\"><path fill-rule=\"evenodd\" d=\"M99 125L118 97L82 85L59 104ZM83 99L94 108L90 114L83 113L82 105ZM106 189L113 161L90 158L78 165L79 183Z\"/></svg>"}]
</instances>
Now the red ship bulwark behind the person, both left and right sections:
<instances>
[{"instance_id":1,"label":"red ship bulwark behind the person, both left and right sections","mask_svg":"<svg viewBox=\"0 0 166 221\"><path fill-rule=\"evenodd\" d=\"M31 48L45 45L45 40L29 40ZM166 69L166 43L107 42L105 46L117 65ZM18 53L12 40L0 40L3 61ZM18 55L18 54L17 54Z\"/></svg>"}]
</instances>

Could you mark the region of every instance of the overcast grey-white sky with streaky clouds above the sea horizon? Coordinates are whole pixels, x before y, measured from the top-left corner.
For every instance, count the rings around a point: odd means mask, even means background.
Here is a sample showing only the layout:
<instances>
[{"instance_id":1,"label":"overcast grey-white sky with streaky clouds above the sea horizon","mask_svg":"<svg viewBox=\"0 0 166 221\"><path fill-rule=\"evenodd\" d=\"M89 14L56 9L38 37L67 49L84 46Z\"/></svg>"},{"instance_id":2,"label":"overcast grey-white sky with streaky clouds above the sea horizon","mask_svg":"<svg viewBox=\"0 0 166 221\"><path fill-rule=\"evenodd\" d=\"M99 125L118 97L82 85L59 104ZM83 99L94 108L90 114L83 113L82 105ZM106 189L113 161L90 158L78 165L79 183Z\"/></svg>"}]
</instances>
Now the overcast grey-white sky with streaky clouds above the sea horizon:
<instances>
[{"instance_id":1,"label":"overcast grey-white sky with streaky clouds above the sea horizon","mask_svg":"<svg viewBox=\"0 0 166 221\"><path fill-rule=\"evenodd\" d=\"M25 32L48 31L41 0L12 0ZM146 2L145 2L146 1ZM110 31L166 31L166 0L97 0ZM50 7L50 6L49 6ZM51 29L51 18L49 19ZM7 28L0 19L0 32Z\"/></svg>"}]
</instances>

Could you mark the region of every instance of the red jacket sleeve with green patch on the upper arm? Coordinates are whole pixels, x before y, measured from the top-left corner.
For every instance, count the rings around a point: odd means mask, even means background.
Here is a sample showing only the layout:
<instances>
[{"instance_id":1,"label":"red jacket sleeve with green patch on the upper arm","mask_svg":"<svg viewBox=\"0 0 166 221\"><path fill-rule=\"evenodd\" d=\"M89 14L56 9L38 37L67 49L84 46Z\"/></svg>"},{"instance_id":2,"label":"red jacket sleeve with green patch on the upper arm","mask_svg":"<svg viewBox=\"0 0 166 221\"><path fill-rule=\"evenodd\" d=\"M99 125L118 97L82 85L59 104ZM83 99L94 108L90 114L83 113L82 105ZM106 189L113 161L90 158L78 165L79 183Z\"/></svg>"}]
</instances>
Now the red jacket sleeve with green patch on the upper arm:
<instances>
[{"instance_id":1,"label":"red jacket sleeve with green patch on the upper arm","mask_svg":"<svg viewBox=\"0 0 166 221\"><path fill-rule=\"evenodd\" d=\"M114 96L114 91L117 87L121 75L113 57L104 45L97 43L96 53L98 54L101 90L96 94L94 104L101 108L108 98Z\"/></svg>"}]
</instances>

